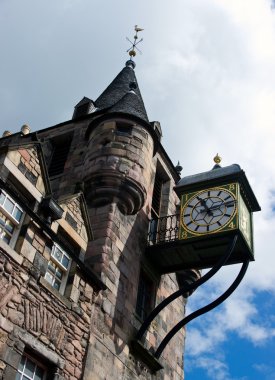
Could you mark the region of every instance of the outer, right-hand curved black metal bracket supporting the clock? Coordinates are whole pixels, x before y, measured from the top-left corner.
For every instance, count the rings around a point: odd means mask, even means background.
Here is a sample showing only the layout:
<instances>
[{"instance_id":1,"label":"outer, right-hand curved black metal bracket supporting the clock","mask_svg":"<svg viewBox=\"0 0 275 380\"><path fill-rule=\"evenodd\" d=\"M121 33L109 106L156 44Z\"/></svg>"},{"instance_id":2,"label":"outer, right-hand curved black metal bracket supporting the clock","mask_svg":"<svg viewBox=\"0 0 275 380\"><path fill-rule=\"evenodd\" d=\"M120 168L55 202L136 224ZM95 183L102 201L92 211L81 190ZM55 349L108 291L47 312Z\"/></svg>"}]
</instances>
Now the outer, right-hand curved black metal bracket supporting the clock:
<instances>
[{"instance_id":1,"label":"outer, right-hand curved black metal bracket supporting the clock","mask_svg":"<svg viewBox=\"0 0 275 380\"><path fill-rule=\"evenodd\" d=\"M155 358L159 359L160 355L162 354L162 351L164 348L167 346L169 341L173 338L173 336L183 327L185 326L188 322L192 321L193 319L197 318L198 316L207 313L208 311L214 309L216 306L220 305L223 301L225 301L233 292L234 290L238 287L240 282L242 281L247 268L249 265L249 259L243 262L243 265L240 269L240 272L238 276L235 278L233 283L230 285L230 287L220 296L218 297L215 301L211 302L210 304L202 307L199 310L194 311L187 317L185 317L182 321L180 321L176 326L174 326L169 333L165 336L161 344L159 345L157 351L155 352L154 356Z\"/></svg>"}]
</instances>

